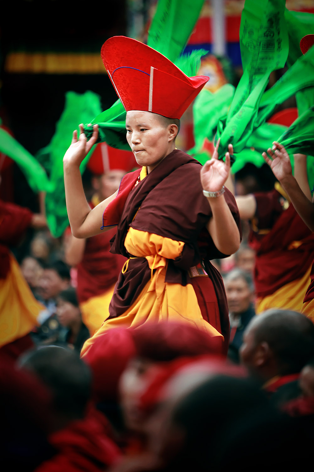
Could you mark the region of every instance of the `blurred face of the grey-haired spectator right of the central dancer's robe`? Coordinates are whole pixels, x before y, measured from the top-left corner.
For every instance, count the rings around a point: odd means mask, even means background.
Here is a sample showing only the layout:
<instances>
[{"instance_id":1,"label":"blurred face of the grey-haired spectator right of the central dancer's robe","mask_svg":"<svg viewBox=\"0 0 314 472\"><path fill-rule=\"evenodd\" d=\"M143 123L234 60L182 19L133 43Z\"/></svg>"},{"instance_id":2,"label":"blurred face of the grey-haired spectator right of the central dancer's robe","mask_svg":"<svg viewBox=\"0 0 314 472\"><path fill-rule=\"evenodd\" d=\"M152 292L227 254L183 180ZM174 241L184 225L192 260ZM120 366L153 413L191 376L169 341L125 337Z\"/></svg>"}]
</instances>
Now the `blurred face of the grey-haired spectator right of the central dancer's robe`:
<instances>
[{"instance_id":1,"label":"blurred face of the grey-haired spectator right of the central dancer's robe","mask_svg":"<svg viewBox=\"0 0 314 472\"><path fill-rule=\"evenodd\" d=\"M242 277L225 282L229 311L234 314L246 312L253 301L253 293Z\"/></svg>"}]
</instances>

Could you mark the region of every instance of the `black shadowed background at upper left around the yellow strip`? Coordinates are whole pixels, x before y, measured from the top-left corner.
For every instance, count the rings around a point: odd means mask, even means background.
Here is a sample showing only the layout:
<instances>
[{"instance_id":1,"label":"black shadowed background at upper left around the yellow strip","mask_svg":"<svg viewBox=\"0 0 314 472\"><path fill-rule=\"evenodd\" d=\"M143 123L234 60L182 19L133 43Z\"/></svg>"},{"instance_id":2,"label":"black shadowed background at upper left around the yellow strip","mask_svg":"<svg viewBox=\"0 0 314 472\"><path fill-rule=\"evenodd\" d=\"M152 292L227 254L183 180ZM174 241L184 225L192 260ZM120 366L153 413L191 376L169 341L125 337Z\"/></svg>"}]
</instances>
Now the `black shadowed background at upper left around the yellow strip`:
<instances>
[{"instance_id":1,"label":"black shadowed background at upper left around the yellow strip","mask_svg":"<svg viewBox=\"0 0 314 472\"><path fill-rule=\"evenodd\" d=\"M46 146L64 109L64 94L91 90L103 110L117 99L104 74L8 73L10 52L95 52L111 36L127 32L127 0L20 0L2 3L0 14L0 118L34 155ZM105 72L105 67L104 67ZM2 180L13 180L14 202L37 211L37 196L16 164ZM2 187L5 183L2 182Z\"/></svg>"}]
</instances>

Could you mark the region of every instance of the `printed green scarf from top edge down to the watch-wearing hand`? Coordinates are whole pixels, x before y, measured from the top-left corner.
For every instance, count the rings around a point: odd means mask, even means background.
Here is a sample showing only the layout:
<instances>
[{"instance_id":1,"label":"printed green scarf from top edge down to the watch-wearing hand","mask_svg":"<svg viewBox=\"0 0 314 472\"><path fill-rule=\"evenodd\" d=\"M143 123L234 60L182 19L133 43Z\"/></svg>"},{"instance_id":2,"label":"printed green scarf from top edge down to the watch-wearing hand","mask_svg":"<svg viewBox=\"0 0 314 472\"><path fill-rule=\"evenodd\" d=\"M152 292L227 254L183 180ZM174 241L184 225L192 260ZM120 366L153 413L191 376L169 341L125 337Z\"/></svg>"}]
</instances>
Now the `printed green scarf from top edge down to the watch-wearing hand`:
<instances>
[{"instance_id":1,"label":"printed green scarf from top edge down to the watch-wearing hand","mask_svg":"<svg viewBox=\"0 0 314 472\"><path fill-rule=\"evenodd\" d=\"M245 1L240 26L243 75L226 120L217 127L221 158L229 143L235 153L244 149L269 75L286 62L289 46L284 11L284 0Z\"/></svg>"}]
</instances>

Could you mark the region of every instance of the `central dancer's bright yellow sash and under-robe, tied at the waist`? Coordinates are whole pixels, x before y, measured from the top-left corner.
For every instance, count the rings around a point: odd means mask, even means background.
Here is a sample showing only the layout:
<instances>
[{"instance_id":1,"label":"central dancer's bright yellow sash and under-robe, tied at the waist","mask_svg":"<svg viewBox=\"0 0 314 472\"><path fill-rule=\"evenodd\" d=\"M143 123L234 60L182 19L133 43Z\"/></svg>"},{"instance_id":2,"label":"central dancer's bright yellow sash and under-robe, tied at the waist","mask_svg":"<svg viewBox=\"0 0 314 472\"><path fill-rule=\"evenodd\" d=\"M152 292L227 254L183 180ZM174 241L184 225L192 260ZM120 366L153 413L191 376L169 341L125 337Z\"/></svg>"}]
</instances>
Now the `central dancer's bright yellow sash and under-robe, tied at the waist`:
<instances>
[{"instance_id":1,"label":"central dancer's bright yellow sash and under-robe, tied at the waist","mask_svg":"<svg viewBox=\"0 0 314 472\"><path fill-rule=\"evenodd\" d=\"M129 254L145 257L151 270L151 279L122 315L105 320L94 336L85 342L82 356L95 338L105 331L118 327L137 327L145 322L180 321L202 329L212 337L224 339L217 329L203 319L191 284L183 287L181 284L165 282L168 259L176 259L181 254L183 242L129 228L124 244ZM129 260L122 272L128 270L128 264Z\"/></svg>"}]
</instances>

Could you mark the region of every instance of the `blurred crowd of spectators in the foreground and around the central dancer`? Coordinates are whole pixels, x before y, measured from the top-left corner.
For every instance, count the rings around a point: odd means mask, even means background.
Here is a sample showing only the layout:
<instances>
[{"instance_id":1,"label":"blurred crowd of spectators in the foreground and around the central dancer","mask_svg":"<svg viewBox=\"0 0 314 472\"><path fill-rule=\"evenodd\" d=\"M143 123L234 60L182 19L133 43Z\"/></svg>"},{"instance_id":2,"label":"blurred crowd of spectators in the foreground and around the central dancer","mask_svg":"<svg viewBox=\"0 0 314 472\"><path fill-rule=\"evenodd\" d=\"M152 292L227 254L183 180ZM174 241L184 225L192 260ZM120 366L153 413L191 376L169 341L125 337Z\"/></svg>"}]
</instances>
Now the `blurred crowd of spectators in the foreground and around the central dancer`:
<instances>
[{"instance_id":1,"label":"blurred crowd of spectators in the foreground and around the central dancer","mask_svg":"<svg viewBox=\"0 0 314 472\"><path fill-rule=\"evenodd\" d=\"M245 179L242 187L244 195L254 192L245 190ZM256 315L250 225L243 219L237 253L213 261L229 306L226 357L196 328L151 323L109 330L105 343L100 338L80 358L90 331L77 267L66 263L67 236L53 238L45 224L32 228L18 262L42 310L32 345L0 348L4 470L265 471L306 464L314 325L284 307Z\"/></svg>"}]
</instances>

